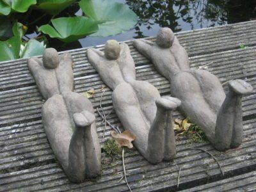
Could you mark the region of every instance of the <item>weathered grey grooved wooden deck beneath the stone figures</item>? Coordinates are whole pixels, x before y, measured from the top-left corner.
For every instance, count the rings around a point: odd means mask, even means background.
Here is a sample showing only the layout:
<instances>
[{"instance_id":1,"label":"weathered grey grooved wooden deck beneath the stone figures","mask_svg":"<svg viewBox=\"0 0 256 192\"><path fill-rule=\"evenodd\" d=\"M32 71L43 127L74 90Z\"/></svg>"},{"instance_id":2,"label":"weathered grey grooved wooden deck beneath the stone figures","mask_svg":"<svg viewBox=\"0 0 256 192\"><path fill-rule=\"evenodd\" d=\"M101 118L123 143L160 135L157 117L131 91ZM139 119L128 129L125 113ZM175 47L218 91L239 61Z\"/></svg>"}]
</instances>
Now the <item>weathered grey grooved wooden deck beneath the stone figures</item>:
<instances>
[{"instance_id":1,"label":"weathered grey grooved wooden deck beneath the stone figures","mask_svg":"<svg viewBox=\"0 0 256 192\"><path fill-rule=\"evenodd\" d=\"M125 154L132 191L255 191L256 21L182 32L177 36L188 51L192 68L207 65L222 83L239 78L252 84L252 95L243 98L243 144L227 152L218 152L209 143L191 144L178 140L175 161L157 165L149 164L134 149ZM127 44L136 63L137 79L154 84L161 95L170 95L170 83L132 47L131 42ZM104 124L96 111L103 83L88 63L86 48L70 52L74 59L75 91L84 93L92 88L96 91L90 100L95 108L100 143L104 145L111 137L111 129L107 127L106 136L102 138ZM122 159L110 166L105 164L99 179L81 184L68 181L45 136L41 121L44 99L27 65L27 60L0 63L0 191L127 191L125 181L118 182L122 177ZM106 113L113 108L108 88L102 97L102 106ZM180 116L179 111L175 111L175 116ZM115 112L108 120L122 129ZM208 154L193 147L203 148L216 156L225 176ZM108 159L102 153L102 160Z\"/></svg>"}]
</instances>

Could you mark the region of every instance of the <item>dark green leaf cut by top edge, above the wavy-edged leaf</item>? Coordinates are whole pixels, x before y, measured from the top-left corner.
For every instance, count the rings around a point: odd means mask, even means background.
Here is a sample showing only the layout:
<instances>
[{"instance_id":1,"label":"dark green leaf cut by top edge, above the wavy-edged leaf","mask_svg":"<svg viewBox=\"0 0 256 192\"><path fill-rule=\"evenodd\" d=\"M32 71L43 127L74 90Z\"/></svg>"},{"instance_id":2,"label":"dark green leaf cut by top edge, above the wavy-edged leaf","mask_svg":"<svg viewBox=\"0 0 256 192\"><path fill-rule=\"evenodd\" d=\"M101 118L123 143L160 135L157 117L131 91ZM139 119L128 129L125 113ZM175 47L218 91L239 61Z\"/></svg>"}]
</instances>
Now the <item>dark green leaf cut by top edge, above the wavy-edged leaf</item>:
<instances>
[{"instance_id":1,"label":"dark green leaf cut by top edge, above the wavy-edged leaf","mask_svg":"<svg viewBox=\"0 0 256 192\"><path fill-rule=\"evenodd\" d=\"M74 1L75 0L38 0L38 5L36 5L35 8L51 15L57 15Z\"/></svg>"}]
</instances>

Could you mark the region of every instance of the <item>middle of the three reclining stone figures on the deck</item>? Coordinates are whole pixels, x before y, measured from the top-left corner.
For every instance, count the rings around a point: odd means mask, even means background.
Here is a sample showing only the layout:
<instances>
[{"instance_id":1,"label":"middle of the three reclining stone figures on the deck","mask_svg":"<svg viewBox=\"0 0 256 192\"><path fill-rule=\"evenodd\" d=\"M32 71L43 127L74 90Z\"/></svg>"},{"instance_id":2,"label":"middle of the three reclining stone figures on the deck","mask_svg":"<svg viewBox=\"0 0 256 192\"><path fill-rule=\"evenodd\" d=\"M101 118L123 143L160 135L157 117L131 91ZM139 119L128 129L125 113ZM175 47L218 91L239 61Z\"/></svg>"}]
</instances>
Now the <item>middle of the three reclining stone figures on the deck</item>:
<instances>
[{"instance_id":1,"label":"middle of the three reclining stone figures on the deck","mask_svg":"<svg viewBox=\"0 0 256 192\"><path fill-rule=\"evenodd\" d=\"M136 135L134 145L150 162L175 157L172 111L180 105L173 97L161 97L147 81L136 81L134 61L128 45L108 40L105 51L88 49L88 60L113 90L116 115L124 129Z\"/></svg>"}]
</instances>

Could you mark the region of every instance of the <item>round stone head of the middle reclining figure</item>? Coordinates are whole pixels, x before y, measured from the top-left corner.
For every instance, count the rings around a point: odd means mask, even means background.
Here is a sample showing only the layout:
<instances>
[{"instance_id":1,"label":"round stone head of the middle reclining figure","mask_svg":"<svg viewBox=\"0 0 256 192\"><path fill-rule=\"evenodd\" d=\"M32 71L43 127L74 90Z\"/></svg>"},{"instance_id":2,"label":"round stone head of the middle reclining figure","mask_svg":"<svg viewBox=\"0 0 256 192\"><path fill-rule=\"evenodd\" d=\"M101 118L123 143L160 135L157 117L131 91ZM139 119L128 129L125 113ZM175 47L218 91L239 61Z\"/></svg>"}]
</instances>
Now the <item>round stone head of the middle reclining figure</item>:
<instances>
[{"instance_id":1,"label":"round stone head of the middle reclining figure","mask_svg":"<svg viewBox=\"0 0 256 192\"><path fill-rule=\"evenodd\" d=\"M121 47L116 40L108 40L105 44L105 56L108 60L116 60L120 55Z\"/></svg>"}]
</instances>

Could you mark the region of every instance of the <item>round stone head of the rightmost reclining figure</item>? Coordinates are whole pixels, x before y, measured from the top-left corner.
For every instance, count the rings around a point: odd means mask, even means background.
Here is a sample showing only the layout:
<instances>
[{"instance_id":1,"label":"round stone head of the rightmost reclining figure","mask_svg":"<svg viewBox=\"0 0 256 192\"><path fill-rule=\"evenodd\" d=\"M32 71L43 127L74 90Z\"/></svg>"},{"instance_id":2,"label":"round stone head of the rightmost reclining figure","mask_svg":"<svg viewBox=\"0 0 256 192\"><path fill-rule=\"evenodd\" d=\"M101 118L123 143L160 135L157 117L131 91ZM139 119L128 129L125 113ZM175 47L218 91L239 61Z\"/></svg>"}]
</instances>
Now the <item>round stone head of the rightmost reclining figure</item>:
<instances>
[{"instance_id":1,"label":"round stone head of the rightmost reclining figure","mask_svg":"<svg viewBox=\"0 0 256 192\"><path fill-rule=\"evenodd\" d=\"M156 36L156 44L159 47L169 48L172 47L173 40L174 40L174 33L170 28L161 28Z\"/></svg>"}]
</instances>

